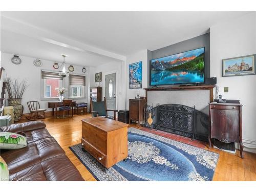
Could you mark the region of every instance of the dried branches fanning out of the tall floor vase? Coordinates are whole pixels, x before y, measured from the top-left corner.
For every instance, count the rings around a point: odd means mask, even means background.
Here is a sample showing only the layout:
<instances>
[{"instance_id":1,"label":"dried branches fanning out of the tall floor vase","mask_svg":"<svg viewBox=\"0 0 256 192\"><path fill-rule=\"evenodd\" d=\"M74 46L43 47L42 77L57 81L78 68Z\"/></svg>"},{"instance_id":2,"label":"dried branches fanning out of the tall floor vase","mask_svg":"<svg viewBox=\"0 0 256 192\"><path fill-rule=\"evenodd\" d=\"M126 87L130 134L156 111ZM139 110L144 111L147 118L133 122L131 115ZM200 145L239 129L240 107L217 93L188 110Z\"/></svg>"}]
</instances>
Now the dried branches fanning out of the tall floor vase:
<instances>
[{"instance_id":1,"label":"dried branches fanning out of the tall floor vase","mask_svg":"<svg viewBox=\"0 0 256 192\"><path fill-rule=\"evenodd\" d=\"M9 99L22 99L24 92L28 88L27 79L19 81L17 78L12 80L10 77L6 76L4 82L6 82Z\"/></svg>"}]
</instances>

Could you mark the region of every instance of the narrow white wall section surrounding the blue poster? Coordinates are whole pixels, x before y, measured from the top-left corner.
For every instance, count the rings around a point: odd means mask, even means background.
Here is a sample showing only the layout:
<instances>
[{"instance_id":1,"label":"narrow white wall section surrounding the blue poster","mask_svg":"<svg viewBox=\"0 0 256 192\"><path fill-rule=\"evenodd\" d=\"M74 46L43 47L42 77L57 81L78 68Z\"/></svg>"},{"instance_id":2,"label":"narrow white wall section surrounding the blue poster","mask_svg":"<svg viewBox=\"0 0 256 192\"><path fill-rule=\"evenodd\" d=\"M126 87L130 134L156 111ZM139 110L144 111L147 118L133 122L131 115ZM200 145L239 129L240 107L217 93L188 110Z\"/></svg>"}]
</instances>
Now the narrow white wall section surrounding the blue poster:
<instances>
[{"instance_id":1,"label":"narrow white wall section surrounding the blue poster","mask_svg":"<svg viewBox=\"0 0 256 192\"><path fill-rule=\"evenodd\" d=\"M125 71L125 84L126 84L126 109L129 109L129 99L135 99L137 92L140 92L140 96L145 96L144 88L147 88L147 60L148 50L141 50L133 55L126 57L126 71ZM142 89L129 89L129 65L134 62L142 61Z\"/></svg>"}]
</instances>

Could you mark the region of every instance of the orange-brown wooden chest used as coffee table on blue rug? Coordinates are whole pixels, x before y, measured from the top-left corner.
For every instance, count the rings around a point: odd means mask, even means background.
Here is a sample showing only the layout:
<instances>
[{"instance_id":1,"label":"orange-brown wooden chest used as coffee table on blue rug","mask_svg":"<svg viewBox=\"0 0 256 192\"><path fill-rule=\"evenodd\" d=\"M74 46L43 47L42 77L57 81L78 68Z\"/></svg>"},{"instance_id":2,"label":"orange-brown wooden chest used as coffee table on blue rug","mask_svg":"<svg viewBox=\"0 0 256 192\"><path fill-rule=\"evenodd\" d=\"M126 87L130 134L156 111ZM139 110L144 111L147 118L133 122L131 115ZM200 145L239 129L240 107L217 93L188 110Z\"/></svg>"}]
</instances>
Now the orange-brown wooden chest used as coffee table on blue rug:
<instances>
[{"instance_id":1,"label":"orange-brown wooden chest used as coffee table on blue rug","mask_svg":"<svg viewBox=\"0 0 256 192\"><path fill-rule=\"evenodd\" d=\"M104 167L110 168L127 158L127 126L105 117L82 119L82 147Z\"/></svg>"}]
</instances>

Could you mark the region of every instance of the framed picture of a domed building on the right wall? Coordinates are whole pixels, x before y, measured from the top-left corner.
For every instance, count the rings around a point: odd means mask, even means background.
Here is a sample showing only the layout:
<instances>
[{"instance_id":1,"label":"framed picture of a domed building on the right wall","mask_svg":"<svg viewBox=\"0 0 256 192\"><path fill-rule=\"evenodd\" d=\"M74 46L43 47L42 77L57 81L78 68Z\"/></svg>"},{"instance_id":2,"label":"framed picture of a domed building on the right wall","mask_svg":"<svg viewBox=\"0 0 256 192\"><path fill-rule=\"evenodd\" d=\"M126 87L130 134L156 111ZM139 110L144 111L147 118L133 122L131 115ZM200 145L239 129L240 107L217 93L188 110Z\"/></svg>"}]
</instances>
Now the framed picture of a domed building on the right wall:
<instances>
[{"instance_id":1,"label":"framed picture of a domed building on the right wall","mask_svg":"<svg viewBox=\"0 0 256 192\"><path fill-rule=\"evenodd\" d=\"M254 74L255 55L247 55L222 60L222 77Z\"/></svg>"}]
</instances>

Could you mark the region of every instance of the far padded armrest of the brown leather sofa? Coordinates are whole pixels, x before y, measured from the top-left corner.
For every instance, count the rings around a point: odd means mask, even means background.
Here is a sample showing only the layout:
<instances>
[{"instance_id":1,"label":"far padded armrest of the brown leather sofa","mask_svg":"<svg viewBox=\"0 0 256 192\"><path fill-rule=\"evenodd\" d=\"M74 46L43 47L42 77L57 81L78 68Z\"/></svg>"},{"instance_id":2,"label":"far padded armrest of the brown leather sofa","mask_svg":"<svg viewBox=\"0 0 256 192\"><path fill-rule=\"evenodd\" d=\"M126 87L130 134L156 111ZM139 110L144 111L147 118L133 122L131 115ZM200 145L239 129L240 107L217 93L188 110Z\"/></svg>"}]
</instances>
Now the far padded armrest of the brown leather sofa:
<instances>
[{"instance_id":1,"label":"far padded armrest of the brown leather sofa","mask_svg":"<svg viewBox=\"0 0 256 192\"><path fill-rule=\"evenodd\" d=\"M45 127L46 127L46 124L42 121L30 121L25 123L17 123L17 124L12 124L8 126L2 126L1 129L4 132L16 133L16 132L27 132L27 131L42 129Z\"/></svg>"}]
</instances>

